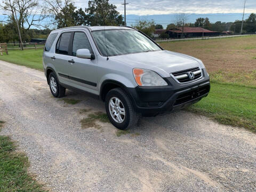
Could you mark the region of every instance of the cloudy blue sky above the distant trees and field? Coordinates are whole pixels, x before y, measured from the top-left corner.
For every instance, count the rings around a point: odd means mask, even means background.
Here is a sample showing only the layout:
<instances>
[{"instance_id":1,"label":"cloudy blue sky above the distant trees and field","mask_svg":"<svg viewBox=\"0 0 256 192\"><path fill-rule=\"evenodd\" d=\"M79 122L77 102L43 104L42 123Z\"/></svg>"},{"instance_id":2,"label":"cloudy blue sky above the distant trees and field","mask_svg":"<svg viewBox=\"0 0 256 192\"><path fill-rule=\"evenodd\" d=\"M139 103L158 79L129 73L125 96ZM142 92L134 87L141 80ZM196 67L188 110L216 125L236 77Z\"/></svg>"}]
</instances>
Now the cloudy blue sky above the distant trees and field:
<instances>
[{"instance_id":1,"label":"cloudy blue sky above the distant trees and field","mask_svg":"<svg viewBox=\"0 0 256 192\"><path fill-rule=\"evenodd\" d=\"M43 0L39 0L43 1ZM74 0L77 8L88 6L87 0ZM124 15L124 0L109 0ZM174 23L178 14L185 14L187 22L195 22L198 17L208 17L210 22L234 22L242 20L244 0L126 0L126 22L131 26L138 20L154 19L164 27ZM4 16L1 15L0 19ZM246 0L245 19L250 13L256 13L256 0ZM48 19L49 20L49 19Z\"/></svg>"}]
</instances>

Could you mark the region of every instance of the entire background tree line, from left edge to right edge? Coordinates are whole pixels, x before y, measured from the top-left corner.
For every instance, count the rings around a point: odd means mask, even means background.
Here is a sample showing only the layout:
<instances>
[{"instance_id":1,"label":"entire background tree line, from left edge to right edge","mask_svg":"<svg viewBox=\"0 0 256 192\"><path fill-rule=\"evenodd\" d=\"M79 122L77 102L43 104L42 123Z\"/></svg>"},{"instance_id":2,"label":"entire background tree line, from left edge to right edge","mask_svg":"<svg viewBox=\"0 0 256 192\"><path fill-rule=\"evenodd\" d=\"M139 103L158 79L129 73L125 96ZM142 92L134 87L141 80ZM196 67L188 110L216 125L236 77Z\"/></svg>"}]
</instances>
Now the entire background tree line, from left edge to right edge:
<instances>
[{"instance_id":1,"label":"entire background tree line, from left edge to right edge","mask_svg":"<svg viewBox=\"0 0 256 192\"><path fill-rule=\"evenodd\" d=\"M73 0L4 0L0 3L0 9L8 13L7 19L0 21L0 42L19 41L17 24L23 42L30 42L31 38L46 38L50 28L124 25L123 16L109 0L90 0L88 8L85 9L77 9ZM239 33L242 25L241 20L212 23L209 18L198 18L194 23L189 23L185 14L177 15L175 20L175 23L167 25L167 30L177 27L203 27L212 31L230 30ZM255 33L256 15L252 13L243 26L243 33ZM151 36L155 29L164 29L154 20L139 20L132 27L148 36ZM167 38L167 34L163 33L161 37Z\"/></svg>"}]
</instances>

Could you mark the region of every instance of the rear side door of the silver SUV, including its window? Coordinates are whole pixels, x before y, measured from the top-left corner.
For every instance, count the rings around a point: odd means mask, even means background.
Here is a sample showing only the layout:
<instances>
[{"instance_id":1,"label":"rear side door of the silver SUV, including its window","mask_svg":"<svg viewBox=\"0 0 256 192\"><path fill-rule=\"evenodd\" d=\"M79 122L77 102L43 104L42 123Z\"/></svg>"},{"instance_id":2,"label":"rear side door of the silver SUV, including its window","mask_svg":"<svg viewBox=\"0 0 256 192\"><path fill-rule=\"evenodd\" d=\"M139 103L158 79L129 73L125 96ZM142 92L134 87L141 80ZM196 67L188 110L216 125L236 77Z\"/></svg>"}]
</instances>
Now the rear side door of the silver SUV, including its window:
<instances>
[{"instance_id":1,"label":"rear side door of the silver SUV, including its window","mask_svg":"<svg viewBox=\"0 0 256 192\"><path fill-rule=\"evenodd\" d=\"M71 67L73 61L70 56L70 39L72 32L64 32L60 35L56 44L55 54L53 57L54 67L57 70L59 81L61 83L70 85L70 79L68 78L71 73Z\"/></svg>"}]
</instances>

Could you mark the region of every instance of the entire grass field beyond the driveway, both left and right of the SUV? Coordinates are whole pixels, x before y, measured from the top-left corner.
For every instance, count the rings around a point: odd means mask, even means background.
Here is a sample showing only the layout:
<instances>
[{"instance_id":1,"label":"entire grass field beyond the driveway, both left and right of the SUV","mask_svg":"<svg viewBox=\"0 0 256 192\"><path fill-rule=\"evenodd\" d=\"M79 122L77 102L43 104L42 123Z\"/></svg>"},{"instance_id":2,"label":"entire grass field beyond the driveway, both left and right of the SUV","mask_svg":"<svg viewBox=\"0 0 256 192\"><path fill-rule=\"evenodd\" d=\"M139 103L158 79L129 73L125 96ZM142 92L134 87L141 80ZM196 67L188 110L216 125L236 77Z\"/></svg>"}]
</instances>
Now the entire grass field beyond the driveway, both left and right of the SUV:
<instances>
[{"instance_id":1,"label":"entire grass field beyond the driveway, both left and right of the SUV","mask_svg":"<svg viewBox=\"0 0 256 192\"><path fill-rule=\"evenodd\" d=\"M256 132L256 35L161 43L201 59L211 77L207 98L188 110ZM10 51L0 59L42 70L42 50Z\"/></svg>"}]
</instances>

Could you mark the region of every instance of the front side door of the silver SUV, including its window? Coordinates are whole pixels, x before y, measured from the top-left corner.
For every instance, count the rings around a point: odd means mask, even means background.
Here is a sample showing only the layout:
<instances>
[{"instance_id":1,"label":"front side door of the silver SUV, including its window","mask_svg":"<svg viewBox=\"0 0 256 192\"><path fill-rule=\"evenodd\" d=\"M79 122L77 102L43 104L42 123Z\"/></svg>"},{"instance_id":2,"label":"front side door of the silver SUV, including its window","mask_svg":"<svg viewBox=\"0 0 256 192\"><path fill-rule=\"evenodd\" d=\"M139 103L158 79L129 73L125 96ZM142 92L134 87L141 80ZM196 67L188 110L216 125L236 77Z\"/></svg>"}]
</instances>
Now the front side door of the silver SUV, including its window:
<instances>
[{"instance_id":1,"label":"front side door of the silver SUV, including its window","mask_svg":"<svg viewBox=\"0 0 256 192\"><path fill-rule=\"evenodd\" d=\"M98 94L97 90L97 58L82 59L76 57L78 49L88 49L93 54L92 46L85 31L74 31L71 43L71 59L74 64L71 66L70 79L78 89Z\"/></svg>"}]
</instances>

